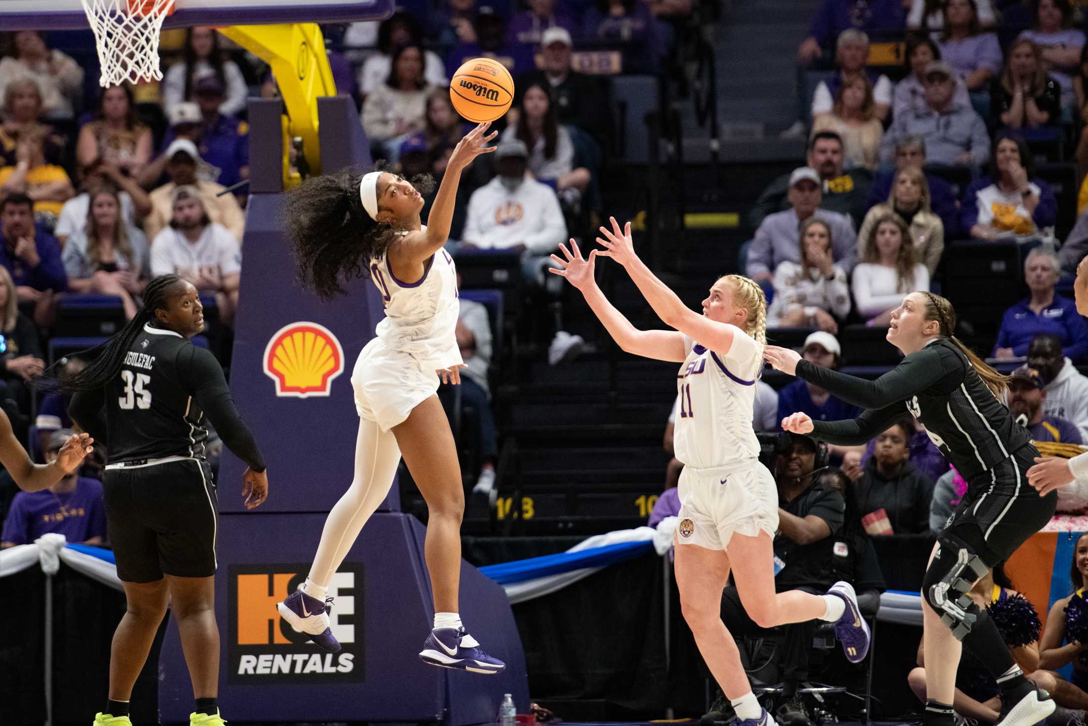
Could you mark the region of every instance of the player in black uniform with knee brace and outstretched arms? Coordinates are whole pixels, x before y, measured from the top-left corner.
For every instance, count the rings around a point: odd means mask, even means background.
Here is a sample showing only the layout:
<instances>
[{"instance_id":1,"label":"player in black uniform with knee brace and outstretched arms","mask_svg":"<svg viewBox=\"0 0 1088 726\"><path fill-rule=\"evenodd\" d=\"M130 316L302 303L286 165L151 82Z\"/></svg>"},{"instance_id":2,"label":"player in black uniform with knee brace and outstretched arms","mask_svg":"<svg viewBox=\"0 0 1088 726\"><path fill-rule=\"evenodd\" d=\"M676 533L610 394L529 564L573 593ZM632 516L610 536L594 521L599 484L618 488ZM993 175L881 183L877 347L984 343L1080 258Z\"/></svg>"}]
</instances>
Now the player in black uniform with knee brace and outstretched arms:
<instances>
[{"instance_id":1,"label":"player in black uniform with knee brace and outstretched arms","mask_svg":"<svg viewBox=\"0 0 1088 726\"><path fill-rule=\"evenodd\" d=\"M813 366L794 350L768 346L765 357L789 374L827 389L866 410L850 421L786 417L782 428L840 445L857 445L910 411L967 481L967 492L940 532L923 579L927 726L952 726L952 697L961 648L991 668L1001 687L998 723L1031 726L1053 713L1013 661L972 586L1011 555L1054 514L1058 495L1040 495L1027 470L1039 456L1031 435L1001 403L1007 377L953 336L955 310L939 295L914 292L891 315L888 341L906 357L876 381Z\"/></svg>"}]
</instances>

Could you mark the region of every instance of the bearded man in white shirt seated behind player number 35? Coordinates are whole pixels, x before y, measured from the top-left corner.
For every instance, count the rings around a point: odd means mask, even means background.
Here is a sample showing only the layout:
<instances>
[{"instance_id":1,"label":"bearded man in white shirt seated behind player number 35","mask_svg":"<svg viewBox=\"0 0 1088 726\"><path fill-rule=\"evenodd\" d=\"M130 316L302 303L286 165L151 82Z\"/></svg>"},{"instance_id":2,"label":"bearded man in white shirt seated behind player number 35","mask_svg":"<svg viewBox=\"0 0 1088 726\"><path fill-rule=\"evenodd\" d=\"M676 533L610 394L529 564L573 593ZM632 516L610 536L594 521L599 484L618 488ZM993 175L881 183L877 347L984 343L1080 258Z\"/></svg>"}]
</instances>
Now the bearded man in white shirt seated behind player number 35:
<instances>
[{"instance_id":1,"label":"bearded man in white shirt seated behind player number 35","mask_svg":"<svg viewBox=\"0 0 1088 726\"><path fill-rule=\"evenodd\" d=\"M214 295L219 317L228 323L238 306L242 247L211 220L202 196L193 185L171 192L170 224L151 243L151 275L176 274L201 295Z\"/></svg>"}]
</instances>

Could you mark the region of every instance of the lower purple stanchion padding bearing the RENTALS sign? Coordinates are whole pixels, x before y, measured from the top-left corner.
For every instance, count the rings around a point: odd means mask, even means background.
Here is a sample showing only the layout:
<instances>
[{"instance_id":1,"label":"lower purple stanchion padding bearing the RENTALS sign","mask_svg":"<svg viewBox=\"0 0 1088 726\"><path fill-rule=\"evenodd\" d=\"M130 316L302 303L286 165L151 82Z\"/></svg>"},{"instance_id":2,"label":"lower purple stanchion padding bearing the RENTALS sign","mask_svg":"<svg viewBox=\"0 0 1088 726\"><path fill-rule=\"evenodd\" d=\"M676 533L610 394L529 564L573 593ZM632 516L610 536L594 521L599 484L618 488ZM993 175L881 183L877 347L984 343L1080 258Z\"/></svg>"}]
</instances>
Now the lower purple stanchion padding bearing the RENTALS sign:
<instances>
[{"instance_id":1,"label":"lower purple stanchion padding bearing the RENTALS sign","mask_svg":"<svg viewBox=\"0 0 1088 726\"><path fill-rule=\"evenodd\" d=\"M471 604L462 606L461 617L506 662L506 672L484 676L419 660L434 612L423 567L426 530L408 515L375 514L333 580L333 628L343 650L325 653L292 631L274 603L305 580L323 524L318 514L221 518L215 610L225 718L460 726L493 722L504 693L514 694L519 712L528 711L521 640L506 596L468 564L461 567L461 602ZM173 620L159 667L162 722L186 722L193 691Z\"/></svg>"}]
</instances>

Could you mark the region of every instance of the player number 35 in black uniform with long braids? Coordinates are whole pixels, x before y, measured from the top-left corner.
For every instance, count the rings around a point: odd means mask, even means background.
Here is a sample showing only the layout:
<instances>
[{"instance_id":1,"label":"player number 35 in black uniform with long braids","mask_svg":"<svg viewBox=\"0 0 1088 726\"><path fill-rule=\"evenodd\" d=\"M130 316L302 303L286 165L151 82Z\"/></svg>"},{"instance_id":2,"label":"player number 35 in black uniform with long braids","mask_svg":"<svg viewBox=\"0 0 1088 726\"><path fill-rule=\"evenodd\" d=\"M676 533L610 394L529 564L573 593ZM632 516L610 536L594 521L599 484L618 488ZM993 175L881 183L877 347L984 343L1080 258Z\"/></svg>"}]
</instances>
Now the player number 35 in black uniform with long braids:
<instances>
[{"instance_id":1,"label":"player number 35 in black uniform with long braids","mask_svg":"<svg viewBox=\"0 0 1088 726\"><path fill-rule=\"evenodd\" d=\"M215 624L215 485L205 457L210 422L249 468L243 496L268 496L264 459L238 417L223 369L193 345L203 330L197 288L173 274L152 279L144 307L92 353L87 368L51 378L75 395L69 413L107 450L103 499L127 612L113 636L109 701L100 726L128 722L132 689L171 604L196 709L190 726L222 726ZM207 417L207 418L206 418Z\"/></svg>"}]
</instances>

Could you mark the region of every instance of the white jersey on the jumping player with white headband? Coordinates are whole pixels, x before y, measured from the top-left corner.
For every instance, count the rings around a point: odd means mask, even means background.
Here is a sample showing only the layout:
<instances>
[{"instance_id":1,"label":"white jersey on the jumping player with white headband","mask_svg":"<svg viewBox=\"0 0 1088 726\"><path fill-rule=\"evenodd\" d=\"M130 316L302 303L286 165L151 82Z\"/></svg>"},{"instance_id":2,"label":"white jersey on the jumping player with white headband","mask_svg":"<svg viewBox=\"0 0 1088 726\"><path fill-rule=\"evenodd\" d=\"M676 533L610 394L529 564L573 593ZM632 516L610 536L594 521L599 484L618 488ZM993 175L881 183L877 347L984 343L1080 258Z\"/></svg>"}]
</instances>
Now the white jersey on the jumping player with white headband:
<instances>
[{"instance_id":1,"label":"white jersey on the jumping player with white headband","mask_svg":"<svg viewBox=\"0 0 1088 726\"><path fill-rule=\"evenodd\" d=\"M374 332L386 347L410 355L424 369L465 362L455 332L460 306L457 268L449 253L436 251L424 263L423 276L411 284L396 279L385 255L375 257L370 279L385 306L385 318Z\"/></svg>"}]
</instances>

